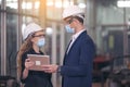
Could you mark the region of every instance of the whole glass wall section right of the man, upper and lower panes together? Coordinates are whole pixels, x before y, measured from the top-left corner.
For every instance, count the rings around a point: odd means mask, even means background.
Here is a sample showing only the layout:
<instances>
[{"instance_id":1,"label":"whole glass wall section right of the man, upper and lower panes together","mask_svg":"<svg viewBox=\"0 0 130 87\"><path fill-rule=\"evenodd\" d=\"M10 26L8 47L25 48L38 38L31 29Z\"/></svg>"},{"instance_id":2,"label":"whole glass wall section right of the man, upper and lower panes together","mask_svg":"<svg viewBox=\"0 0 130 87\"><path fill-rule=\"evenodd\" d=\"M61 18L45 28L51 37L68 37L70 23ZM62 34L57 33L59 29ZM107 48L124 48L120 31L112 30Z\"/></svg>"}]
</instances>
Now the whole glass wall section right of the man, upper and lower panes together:
<instances>
[{"instance_id":1,"label":"whole glass wall section right of the man, upper and lower panes together","mask_svg":"<svg viewBox=\"0 0 130 87\"><path fill-rule=\"evenodd\" d=\"M98 54L112 57L128 54L127 26L130 10L127 7L119 7L118 2L119 0L94 0Z\"/></svg>"}]
</instances>

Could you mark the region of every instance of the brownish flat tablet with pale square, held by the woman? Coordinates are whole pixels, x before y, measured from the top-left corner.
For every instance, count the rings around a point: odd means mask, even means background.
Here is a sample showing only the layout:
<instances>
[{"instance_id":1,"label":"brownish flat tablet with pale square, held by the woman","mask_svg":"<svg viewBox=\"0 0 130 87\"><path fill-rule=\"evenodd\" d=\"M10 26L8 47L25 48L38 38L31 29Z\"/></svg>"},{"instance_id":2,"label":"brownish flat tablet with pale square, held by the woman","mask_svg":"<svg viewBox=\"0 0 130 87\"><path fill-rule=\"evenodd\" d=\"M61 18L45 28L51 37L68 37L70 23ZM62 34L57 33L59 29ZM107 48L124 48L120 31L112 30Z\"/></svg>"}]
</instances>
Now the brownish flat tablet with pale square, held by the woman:
<instances>
[{"instance_id":1,"label":"brownish flat tablet with pale square, held by the woman","mask_svg":"<svg viewBox=\"0 0 130 87\"><path fill-rule=\"evenodd\" d=\"M50 55L27 54L27 57L30 59L30 61L32 61L35 63L29 70L42 71L41 65L50 64Z\"/></svg>"}]
</instances>

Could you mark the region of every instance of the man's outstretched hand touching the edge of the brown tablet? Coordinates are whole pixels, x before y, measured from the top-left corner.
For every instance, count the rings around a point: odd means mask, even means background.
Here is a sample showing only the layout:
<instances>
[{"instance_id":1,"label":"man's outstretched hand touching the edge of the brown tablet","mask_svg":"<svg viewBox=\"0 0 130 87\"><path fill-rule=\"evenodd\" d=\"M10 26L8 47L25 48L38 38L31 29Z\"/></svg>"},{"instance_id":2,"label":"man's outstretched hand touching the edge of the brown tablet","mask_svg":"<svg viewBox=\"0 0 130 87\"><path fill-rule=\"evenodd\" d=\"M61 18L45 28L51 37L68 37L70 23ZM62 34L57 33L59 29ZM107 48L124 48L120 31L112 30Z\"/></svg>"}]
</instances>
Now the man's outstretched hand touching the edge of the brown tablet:
<instances>
[{"instance_id":1,"label":"man's outstretched hand touching the edge of the brown tablet","mask_svg":"<svg viewBox=\"0 0 130 87\"><path fill-rule=\"evenodd\" d=\"M58 65L50 64L50 65L42 65L42 70L46 73L56 73Z\"/></svg>"}]
</instances>

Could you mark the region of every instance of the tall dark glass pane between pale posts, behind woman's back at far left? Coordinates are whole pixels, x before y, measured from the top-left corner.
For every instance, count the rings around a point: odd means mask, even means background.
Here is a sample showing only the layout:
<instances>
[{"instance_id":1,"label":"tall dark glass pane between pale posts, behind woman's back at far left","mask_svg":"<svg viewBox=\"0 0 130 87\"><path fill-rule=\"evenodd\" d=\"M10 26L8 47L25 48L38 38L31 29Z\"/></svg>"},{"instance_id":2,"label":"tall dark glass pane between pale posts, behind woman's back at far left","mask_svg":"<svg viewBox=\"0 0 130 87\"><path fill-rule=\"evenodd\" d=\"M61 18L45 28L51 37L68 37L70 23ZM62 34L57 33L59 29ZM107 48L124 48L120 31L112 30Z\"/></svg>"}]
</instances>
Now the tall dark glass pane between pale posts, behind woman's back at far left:
<instances>
[{"instance_id":1,"label":"tall dark glass pane between pale posts, behind woman's back at far left","mask_svg":"<svg viewBox=\"0 0 130 87\"><path fill-rule=\"evenodd\" d=\"M6 15L6 64L8 75L16 75L16 33L17 33L17 15Z\"/></svg>"}]
</instances>

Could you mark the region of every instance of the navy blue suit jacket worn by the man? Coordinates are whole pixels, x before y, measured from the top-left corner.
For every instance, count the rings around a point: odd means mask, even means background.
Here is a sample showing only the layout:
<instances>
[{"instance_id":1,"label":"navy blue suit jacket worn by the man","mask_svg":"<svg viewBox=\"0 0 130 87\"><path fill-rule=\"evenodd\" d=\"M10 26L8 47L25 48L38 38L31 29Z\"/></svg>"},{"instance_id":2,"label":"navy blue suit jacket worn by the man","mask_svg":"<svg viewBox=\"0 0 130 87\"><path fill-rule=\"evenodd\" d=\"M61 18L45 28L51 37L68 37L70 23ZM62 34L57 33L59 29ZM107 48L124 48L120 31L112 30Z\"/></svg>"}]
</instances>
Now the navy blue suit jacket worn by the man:
<instances>
[{"instance_id":1,"label":"navy blue suit jacket worn by the man","mask_svg":"<svg viewBox=\"0 0 130 87\"><path fill-rule=\"evenodd\" d=\"M65 53L61 75L62 87L92 87L92 62L95 46L92 39L82 32Z\"/></svg>"}]
</instances>

